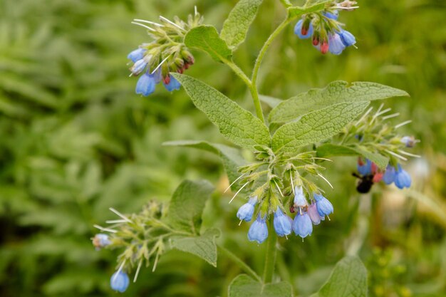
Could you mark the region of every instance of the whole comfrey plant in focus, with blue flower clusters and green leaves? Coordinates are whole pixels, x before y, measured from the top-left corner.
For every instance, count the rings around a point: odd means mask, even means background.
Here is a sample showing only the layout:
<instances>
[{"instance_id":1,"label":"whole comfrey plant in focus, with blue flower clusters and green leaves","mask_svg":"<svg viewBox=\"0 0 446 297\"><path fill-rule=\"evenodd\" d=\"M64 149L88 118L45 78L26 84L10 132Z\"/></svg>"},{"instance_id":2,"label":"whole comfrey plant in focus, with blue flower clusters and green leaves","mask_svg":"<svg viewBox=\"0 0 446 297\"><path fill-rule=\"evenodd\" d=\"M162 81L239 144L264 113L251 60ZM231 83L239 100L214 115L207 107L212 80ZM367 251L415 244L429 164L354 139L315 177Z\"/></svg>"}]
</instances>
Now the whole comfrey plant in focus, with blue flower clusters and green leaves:
<instances>
[{"instance_id":1,"label":"whole comfrey plant in focus, with blue flower clusters and green leaves","mask_svg":"<svg viewBox=\"0 0 446 297\"><path fill-rule=\"evenodd\" d=\"M247 273L232 281L229 296L292 296L288 283L271 283L277 237L288 239L294 233L304 240L313 234L314 226L328 224L334 209L322 184L332 187L323 175L330 164L329 157L358 158L359 192L368 192L378 182L394 183L400 189L410 187L410 176L401 164L407 157L416 157L405 148L413 147L418 140L398 135L398 128L409 122L391 125L390 118L398 113L387 115L390 108L383 110L383 105L375 112L368 108L374 100L408 95L403 90L378 83L336 81L287 100L267 101L272 108L267 118L261 108L257 77L266 51L279 33L296 24L294 33L299 38L311 38L321 53L338 55L356 44L353 34L338 21L342 11L358 8L356 2L308 0L304 6L293 6L281 0L286 18L266 38L248 76L232 61L232 56L244 41L261 3L261 0L240 0L224 21L221 32L214 26L202 25L196 8L187 21L177 17L170 21L162 16L160 23L136 19L133 24L147 29L150 41L131 51L128 58L133 62L131 75L140 75L137 94L150 95L160 82L169 91L182 86L227 140L251 152L251 160L255 162L244 160L239 149L227 145L187 140L165 144L195 147L222 157L231 183L227 190L234 191L229 203L237 197L247 199L236 214L240 224L251 224L247 239L256 244L268 241L263 277L216 243L218 229L201 230L204 204L214 188L207 181L187 180L177 188L168 207L150 202L140 213L130 215L110 209L118 219L107 221L110 224L107 227L96 225L103 232L93 238L96 249L123 250L110 278L113 290L125 291L130 273L134 273L136 281L142 264L152 265L155 270L165 251L179 249L214 266L218 253L229 256ZM234 71L251 93L256 116L218 90L183 74L195 63L192 50L204 51ZM355 276L365 283L364 269L357 258L342 260L336 269L341 274L343 269L355 269ZM326 286L330 287L331 281L336 282L332 287L342 286L334 276ZM321 291L327 290L326 286ZM365 296L367 289L362 286L354 290L352 296Z\"/></svg>"}]
</instances>

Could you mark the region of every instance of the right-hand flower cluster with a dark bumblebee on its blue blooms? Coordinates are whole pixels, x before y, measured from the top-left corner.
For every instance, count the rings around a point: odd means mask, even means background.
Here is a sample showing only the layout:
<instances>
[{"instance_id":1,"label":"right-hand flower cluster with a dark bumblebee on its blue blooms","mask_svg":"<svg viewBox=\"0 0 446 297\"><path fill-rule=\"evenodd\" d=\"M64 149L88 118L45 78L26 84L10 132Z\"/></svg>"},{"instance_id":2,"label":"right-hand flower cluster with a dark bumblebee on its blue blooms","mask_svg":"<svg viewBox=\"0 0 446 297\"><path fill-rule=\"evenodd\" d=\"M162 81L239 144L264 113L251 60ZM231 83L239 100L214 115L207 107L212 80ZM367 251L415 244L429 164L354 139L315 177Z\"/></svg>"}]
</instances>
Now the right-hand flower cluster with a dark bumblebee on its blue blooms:
<instances>
[{"instance_id":1,"label":"right-hand flower cluster with a dark bumblebee on its blue blooms","mask_svg":"<svg viewBox=\"0 0 446 297\"><path fill-rule=\"evenodd\" d=\"M408 157L420 157L407 152L405 149L413 147L415 143L419 142L413 136L400 136L397 130L403 125L411 121L405 121L398 125L390 125L387 120L395 118L398 113L386 115L390 108L383 110L383 105L378 108L374 115L371 115L372 108L370 108L358 121L346 128L343 135L343 145L353 145L360 150L379 154L380 158L385 158L388 161L387 166L378 167L376 162L373 162L366 157L358 157L358 174L354 174L359 178L358 192L367 193L370 187L378 182L384 184L395 184L399 189L410 187L412 179L407 171L403 170L401 162L408 160ZM348 136L350 135L350 136ZM353 137L351 135L354 135ZM341 135L342 136L342 135ZM349 142L349 139L351 140ZM382 162L382 159L381 161ZM384 163L385 165L385 163Z\"/></svg>"}]
</instances>

